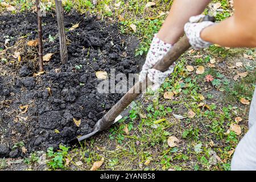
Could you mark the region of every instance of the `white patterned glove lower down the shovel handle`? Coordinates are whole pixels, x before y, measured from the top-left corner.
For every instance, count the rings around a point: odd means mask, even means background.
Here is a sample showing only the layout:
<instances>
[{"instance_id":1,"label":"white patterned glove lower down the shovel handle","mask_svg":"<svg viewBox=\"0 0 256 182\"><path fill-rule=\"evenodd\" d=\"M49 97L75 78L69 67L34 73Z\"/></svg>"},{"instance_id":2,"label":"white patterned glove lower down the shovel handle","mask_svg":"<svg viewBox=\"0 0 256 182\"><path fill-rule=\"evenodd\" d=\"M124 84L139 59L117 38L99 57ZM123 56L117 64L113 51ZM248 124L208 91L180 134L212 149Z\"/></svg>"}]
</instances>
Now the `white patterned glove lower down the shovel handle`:
<instances>
[{"instance_id":1,"label":"white patterned glove lower down the shovel handle","mask_svg":"<svg viewBox=\"0 0 256 182\"><path fill-rule=\"evenodd\" d=\"M175 63L165 71L161 72L152 67L171 49L172 45L160 40L156 34L152 40L150 49L147 53L146 61L139 73L139 81L142 82L146 76L154 83L152 90L156 90L164 82L166 77L174 71Z\"/></svg>"}]
</instances>

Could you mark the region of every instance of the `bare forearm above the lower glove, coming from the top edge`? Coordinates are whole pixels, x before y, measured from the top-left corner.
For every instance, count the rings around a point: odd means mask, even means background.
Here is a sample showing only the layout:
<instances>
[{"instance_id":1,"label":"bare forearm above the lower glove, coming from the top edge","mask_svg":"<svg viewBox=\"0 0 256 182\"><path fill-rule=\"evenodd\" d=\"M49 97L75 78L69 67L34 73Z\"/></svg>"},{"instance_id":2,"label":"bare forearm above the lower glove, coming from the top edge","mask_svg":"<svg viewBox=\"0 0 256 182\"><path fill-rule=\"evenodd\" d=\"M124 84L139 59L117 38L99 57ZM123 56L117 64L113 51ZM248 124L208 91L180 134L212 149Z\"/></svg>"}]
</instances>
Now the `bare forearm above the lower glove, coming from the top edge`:
<instances>
[{"instance_id":1,"label":"bare forearm above the lower glove, coming from the top edge","mask_svg":"<svg viewBox=\"0 0 256 182\"><path fill-rule=\"evenodd\" d=\"M201 14L210 0L176 0L158 32L158 38L174 44L184 34L184 24L190 16Z\"/></svg>"}]
</instances>

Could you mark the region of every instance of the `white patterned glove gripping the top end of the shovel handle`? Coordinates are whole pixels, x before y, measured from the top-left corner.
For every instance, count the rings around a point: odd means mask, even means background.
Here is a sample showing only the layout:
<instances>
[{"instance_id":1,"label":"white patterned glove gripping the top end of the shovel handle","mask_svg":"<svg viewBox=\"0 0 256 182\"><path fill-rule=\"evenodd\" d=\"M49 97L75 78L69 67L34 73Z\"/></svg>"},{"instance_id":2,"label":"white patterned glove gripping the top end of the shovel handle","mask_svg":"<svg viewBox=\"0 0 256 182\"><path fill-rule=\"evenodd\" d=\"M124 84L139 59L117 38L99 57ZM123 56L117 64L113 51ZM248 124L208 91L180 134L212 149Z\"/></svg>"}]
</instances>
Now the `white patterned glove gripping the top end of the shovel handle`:
<instances>
[{"instance_id":1,"label":"white patterned glove gripping the top end of the shovel handle","mask_svg":"<svg viewBox=\"0 0 256 182\"><path fill-rule=\"evenodd\" d=\"M187 35L189 43L196 50L207 48L212 44L204 41L200 37L200 33L204 28L212 26L214 24L210 21L197 23L201 18L204 18L204 16L205 15L191 16L191 18L189 18L189 22L186 23L184 26L184 31L185 34Z\"/></svg>"}]
</instances>

